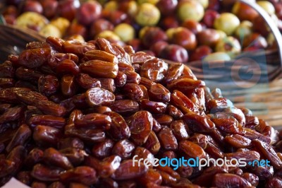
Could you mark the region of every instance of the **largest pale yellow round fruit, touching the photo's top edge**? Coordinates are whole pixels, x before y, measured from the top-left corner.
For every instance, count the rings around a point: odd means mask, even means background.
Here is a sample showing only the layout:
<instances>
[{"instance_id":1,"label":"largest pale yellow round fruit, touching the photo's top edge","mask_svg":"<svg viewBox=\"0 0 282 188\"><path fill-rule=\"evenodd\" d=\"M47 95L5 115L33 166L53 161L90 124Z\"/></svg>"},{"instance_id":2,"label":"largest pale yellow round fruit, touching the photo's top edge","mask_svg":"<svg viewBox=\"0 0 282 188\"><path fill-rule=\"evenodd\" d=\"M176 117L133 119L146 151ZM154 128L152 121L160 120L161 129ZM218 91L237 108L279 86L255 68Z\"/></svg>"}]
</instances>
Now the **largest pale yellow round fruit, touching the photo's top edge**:
<instances>
[{"instance_id":1,"label":"largest pale yellow round fruit, touching the photo's top edge","mask_svg":"<svg viewBox=\"0 0 282 188\"><path fill-rule=\"evenodd\" d=\"M183 1L178 5L178 18L180 20L195 20L199 22L204 17L204 7L195 0Z\"/></svg>"}]
</instances>

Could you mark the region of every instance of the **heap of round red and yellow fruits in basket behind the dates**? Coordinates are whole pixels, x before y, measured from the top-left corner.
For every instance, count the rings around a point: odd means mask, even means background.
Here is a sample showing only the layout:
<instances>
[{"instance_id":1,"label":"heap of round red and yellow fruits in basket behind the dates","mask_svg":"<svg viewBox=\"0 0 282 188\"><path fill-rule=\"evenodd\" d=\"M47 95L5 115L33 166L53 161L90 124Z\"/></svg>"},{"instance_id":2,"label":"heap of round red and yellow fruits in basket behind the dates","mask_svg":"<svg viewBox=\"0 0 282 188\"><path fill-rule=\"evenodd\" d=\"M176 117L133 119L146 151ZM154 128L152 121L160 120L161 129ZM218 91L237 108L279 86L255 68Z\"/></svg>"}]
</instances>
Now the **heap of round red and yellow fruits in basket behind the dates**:
<instances>
[{"instance_id":1,"label":"heap of round red and yellow fruits in basket behind the dates","mask_svg":"<svg viewBox=\"0 0 282 188\"><path fill-rule=\"evenodd\" d=\"M235 1L13 0L6 4L7 23L46 37L86 41L104 37L131 45L135 51L183 63L204 57L228 61L241 52L276 48L259 13ZM281 2L257 4L282 28Z\"/></svg>"}]
</instances>

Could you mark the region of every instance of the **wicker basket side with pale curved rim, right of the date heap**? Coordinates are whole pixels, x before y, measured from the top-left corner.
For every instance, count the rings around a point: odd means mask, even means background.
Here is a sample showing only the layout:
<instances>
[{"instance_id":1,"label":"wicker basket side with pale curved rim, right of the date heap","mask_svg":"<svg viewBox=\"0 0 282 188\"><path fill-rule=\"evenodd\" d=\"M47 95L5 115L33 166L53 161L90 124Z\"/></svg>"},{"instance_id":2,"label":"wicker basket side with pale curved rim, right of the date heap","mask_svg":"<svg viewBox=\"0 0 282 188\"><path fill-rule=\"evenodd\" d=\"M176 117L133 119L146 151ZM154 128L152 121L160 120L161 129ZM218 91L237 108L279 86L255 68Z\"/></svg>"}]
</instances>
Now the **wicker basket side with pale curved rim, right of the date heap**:
<instances>
[{"instance_id":1,"label":"wicker basket side with pale curved rim, right of the date heap","mask_svg":"<svg viewBox=\"0 0 282 188\"><path fill-rule=\"evenodd\" d=\"M252 6L273 33L277 49L245 52L231 61L192 61L188 64L209 88L221 88L236 107L247 107L259 119L282 129L282 37L269 15L257 4Z\"/></svg>"}]
</instances>

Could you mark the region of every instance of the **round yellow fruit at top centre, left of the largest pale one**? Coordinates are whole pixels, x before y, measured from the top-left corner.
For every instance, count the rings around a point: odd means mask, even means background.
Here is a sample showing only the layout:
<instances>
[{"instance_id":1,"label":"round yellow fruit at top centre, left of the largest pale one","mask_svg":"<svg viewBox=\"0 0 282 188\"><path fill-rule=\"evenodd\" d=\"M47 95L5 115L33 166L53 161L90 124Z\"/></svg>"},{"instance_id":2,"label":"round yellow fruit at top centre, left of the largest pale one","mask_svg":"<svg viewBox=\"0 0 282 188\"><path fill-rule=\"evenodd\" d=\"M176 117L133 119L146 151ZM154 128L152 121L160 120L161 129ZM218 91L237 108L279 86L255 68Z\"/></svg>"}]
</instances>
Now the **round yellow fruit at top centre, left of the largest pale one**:
<instances>
[{"instance_id":1,"label":"round yellow fruit at top centre, left of the largest pale one","mask_svg":"<svg viewBox=\"0 0 282 188\"><path fill-rule=\"evenodd\" d=\"M145 3L140 5L135 21L142 26L153 26L157 25L160 18L161 13L159 9L153 4Z\"/></svg>"}]
</instances>

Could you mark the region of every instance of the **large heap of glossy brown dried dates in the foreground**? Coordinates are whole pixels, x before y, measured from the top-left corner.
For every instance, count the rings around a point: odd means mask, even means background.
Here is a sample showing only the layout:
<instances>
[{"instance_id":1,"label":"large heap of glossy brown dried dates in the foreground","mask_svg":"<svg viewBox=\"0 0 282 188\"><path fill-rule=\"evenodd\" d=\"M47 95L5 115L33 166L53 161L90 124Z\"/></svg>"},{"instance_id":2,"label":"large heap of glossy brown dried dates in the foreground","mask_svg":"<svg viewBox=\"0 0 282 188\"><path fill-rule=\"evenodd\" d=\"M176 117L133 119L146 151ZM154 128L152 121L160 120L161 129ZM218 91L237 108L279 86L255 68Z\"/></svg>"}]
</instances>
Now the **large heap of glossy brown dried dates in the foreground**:
<instances>
[{"instance_id":1,"label":"large heap of glossy brown dried dates in the foreground","mask_svg":"<svg viewBox=\"0 0 282 188\"><path fill-rule=\"evenodd\" d=\"M98 38L48 37L0 65L0 184L281 187L282 134L180 63ZM269 166L158 166L245 158Z\"/></svg>"}]
</instances>

